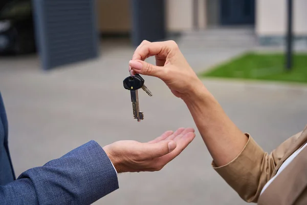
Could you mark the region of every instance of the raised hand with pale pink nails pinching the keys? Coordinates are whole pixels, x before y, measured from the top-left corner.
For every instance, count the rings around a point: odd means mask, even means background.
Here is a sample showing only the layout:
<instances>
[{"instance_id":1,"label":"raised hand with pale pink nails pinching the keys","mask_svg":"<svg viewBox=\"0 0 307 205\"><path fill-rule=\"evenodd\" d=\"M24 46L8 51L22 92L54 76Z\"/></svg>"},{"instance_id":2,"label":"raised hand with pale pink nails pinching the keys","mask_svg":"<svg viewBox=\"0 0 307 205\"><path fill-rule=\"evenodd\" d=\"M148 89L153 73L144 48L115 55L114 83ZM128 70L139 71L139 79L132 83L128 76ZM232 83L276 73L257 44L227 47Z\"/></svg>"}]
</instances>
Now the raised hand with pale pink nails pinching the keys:
<instances>
[{"instance_id":1,"label":"raised hand with pale pink nails pinching the keys","mask_svg":"<svg viewBox=\"0 0 307 205\"><path fill-rule=\"evenodd\" d=\"M156 57L156 66L144 61L150 56ZM154 43L144 40L129 61L129 69L132 74L162 79L177 97L190 97L205 88L173 40Z\"/></svg>"}]
</instances>

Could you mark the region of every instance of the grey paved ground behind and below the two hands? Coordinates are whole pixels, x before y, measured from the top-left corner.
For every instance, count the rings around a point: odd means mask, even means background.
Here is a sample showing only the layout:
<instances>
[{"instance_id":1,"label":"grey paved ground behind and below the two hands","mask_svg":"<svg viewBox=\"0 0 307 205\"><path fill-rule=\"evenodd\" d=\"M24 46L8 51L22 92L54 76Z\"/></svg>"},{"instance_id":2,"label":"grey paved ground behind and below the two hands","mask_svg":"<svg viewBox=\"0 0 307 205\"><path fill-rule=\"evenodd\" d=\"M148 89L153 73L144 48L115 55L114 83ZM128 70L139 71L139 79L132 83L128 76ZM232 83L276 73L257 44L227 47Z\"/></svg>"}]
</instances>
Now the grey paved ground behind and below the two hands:
<instances>
[{"instance_id":1,"label":"grey paved ground behind and below the two hands","mask_svg":"<svg viewBox=\"0 0 307 205\"><path fill-rule=\"evenodd\" d=\"M182 42L183 53L196 71L244 49L193 49ZM140 92L145 119L137 123L132 118L129 92L122 87L132 54L133 48L125 42L104 43L97 60L50 72L39 70L35 56L0 58L0 89L17 175L91 139L101 146L123 139L144 142L166 130L195 128L184 103L161 80L151 77L144 78L153 96ZM305 87L213 79L204 79L204 84L238 127L266 151L307 123ZM163 170L120 174L120 189L95 204L246 204L210 163L197 133L190 146Z\"/></svg>"}]
</instances>

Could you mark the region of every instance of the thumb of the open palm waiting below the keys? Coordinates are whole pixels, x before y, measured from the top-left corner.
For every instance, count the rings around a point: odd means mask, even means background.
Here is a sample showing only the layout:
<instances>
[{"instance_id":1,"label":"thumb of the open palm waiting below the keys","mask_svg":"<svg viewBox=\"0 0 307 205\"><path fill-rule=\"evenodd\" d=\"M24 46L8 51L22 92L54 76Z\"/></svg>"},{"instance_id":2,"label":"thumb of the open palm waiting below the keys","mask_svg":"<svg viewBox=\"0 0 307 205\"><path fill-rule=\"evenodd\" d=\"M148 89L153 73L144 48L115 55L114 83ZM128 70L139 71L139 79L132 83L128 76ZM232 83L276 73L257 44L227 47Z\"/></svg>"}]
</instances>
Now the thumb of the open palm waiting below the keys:
<instances>
[{"instance_id":1,"label":"thumb of the open palm waiting below the keys","mask_svg":"<svg viewBox=\"0 0 307 205\"><path fill-rule=\"evenodd\" d=\"M176 147L177 144L173 140L163 140L154 144L145 143L143 147L143 151L145 153L144 158L153 159L157 157L162 157L173 151Z\"/></svg>"}]
</instances>

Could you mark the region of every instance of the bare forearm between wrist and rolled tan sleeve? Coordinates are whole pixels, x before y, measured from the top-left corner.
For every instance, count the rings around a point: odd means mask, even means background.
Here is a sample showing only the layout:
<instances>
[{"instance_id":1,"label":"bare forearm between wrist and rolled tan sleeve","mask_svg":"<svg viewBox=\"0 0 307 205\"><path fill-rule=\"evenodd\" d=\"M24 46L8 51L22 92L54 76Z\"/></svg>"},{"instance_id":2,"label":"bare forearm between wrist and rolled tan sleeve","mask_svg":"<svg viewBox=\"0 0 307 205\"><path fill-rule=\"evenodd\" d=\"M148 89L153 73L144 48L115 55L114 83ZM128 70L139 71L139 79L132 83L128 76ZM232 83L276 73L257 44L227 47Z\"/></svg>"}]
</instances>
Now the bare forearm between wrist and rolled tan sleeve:
<instances>
[{"instance_id":1,"label":"bare forearm between wrist and rolled tan sleeve","mask_svg":"<svg viewBox=\"0 0 307 205\"><path fill-rule=\"evenodd\" d=\"M204 86L197 87L183 100L216 166L224 166L233 160L243 150L248 137L235 126Z\"/></svg>"}]
</instances>

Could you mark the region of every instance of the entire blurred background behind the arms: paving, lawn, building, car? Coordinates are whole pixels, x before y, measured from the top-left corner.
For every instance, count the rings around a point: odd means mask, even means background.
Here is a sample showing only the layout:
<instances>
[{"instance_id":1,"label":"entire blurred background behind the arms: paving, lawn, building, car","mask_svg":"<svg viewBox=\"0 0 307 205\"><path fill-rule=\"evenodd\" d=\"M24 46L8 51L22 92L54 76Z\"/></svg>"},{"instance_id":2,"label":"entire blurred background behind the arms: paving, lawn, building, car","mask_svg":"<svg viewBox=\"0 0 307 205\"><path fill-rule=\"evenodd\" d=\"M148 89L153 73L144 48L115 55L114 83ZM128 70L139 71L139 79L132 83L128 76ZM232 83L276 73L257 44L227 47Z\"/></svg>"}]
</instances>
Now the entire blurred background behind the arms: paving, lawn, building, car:
<instances>
[{"instance_id":1,"label":"entire blurred background behind the arms: paving, lawn, building, car","mask_svg":"<svg viewBox=\"0 0 307 205\"><path fill-rule=\"evenodd\" d=\"M139 92L145 117L133 119L122 80L144 39L175 40L235 124L272 151L307 124L307 0L291 2L2 0L0 91L16 175L91 139L196 129L183 101L147 76L153 96ZM246 204L198 132L163 170L120 174L119 186L95 204Z\"/></svg>"}]
</instances>

